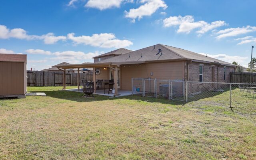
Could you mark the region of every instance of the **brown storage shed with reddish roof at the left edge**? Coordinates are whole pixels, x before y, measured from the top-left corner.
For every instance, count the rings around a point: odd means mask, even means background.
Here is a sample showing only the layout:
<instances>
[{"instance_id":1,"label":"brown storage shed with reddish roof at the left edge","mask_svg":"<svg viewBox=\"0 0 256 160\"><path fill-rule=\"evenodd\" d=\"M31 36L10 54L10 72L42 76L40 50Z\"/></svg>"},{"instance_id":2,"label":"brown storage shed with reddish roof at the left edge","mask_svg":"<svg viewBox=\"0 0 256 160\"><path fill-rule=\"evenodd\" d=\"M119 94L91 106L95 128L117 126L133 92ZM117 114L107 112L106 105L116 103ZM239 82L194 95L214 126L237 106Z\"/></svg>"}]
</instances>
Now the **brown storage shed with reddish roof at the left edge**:
<instances>
[{"instance_id":1,"label":"brown storage shed with reddish roof at the left edge","mask_svg":"<svg viewBox=\"0 0 256 160\"><path fill-rule=\"evenodd\" d=\"M26 97L26 54L0 54L0 98Z\"/></svg>"}]
</instances>

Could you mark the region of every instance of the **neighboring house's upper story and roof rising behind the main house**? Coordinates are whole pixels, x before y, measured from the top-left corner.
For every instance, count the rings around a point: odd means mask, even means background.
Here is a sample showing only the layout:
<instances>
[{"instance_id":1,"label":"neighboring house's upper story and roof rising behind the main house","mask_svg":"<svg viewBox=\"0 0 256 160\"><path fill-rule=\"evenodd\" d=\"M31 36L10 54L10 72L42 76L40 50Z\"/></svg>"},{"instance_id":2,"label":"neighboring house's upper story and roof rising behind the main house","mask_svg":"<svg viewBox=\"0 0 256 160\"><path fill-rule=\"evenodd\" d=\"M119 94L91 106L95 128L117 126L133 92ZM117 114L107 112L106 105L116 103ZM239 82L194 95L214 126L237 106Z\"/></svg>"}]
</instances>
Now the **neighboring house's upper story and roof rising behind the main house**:
<instances>
[{"instance_id":1,"label":"neighboring house's upper story and roof rising behind the main house","mask_svg":"<svg viewBox=\"0 0 256 160\"><path fill-rule=\"evenodd\" d=\"M94 59L94 62L100 62L102 60L106 60L108 58L112 58L114 56L119 56L121 54L126 54L126 53L129 53L129 52L132 52L132 50L128 50L128 49L125 49L125 48L119 48L117 50L113 50L113 51L110 51L108 53L104 53L104 54L101 54L99 56L92 57L92 58Z\"/></svg>"}]
</instances>

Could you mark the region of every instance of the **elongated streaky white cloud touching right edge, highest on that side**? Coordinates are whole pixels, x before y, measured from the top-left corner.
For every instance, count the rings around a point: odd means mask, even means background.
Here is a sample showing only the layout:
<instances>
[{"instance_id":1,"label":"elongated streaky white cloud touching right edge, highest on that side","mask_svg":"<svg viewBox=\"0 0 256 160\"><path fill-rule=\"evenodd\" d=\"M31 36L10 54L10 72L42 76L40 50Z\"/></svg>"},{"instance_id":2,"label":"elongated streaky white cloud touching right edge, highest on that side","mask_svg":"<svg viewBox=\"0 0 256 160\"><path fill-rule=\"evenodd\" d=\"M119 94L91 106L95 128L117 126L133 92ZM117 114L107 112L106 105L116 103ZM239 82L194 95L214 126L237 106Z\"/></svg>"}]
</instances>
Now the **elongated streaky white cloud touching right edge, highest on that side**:
<instances>
[{"instance_id":1,"label":"elongated streaky white cloud touching right edge, highest on that side","mask_svg":"<svg viewBox=\"0 0 256 160\"><path fill-rule=\"evenodd\" d=\"M224 30L220 30L216 32L216 34L219 34L216 38L221 39L221 38L226 38L226 37L232 37L232 36L238 36L240 34L246 34L249 32L255 32L256 27L255 26L246 26L246 27L238 27L238 28L227 28Z\"/></svg>"}]
</instances>

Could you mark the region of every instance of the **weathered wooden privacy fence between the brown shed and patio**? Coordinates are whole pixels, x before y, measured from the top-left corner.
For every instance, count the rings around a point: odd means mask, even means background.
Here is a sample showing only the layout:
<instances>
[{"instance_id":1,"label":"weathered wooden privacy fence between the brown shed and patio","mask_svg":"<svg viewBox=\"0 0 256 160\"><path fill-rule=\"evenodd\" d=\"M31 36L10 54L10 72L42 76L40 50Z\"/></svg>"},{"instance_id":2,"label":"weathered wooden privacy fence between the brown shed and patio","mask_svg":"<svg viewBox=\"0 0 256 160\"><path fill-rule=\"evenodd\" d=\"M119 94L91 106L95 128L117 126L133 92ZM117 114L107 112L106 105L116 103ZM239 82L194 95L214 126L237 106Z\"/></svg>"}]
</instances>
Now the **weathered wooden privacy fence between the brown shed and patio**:
<instances>
[{"instance_id":1,"label":"weathered wooden privacy fence between the brown shed and patio","mask_svg":"<svg viewBox=\"0 0 256 160\"><path fill-rule=\"evenodd\" d=\"M92 73L79 73L80 80L92 81ZM27 86L63 86L63 72L27 70ZM66 86L77 86L77 73L66 72Z\"/></svg>"}]
</instances>

